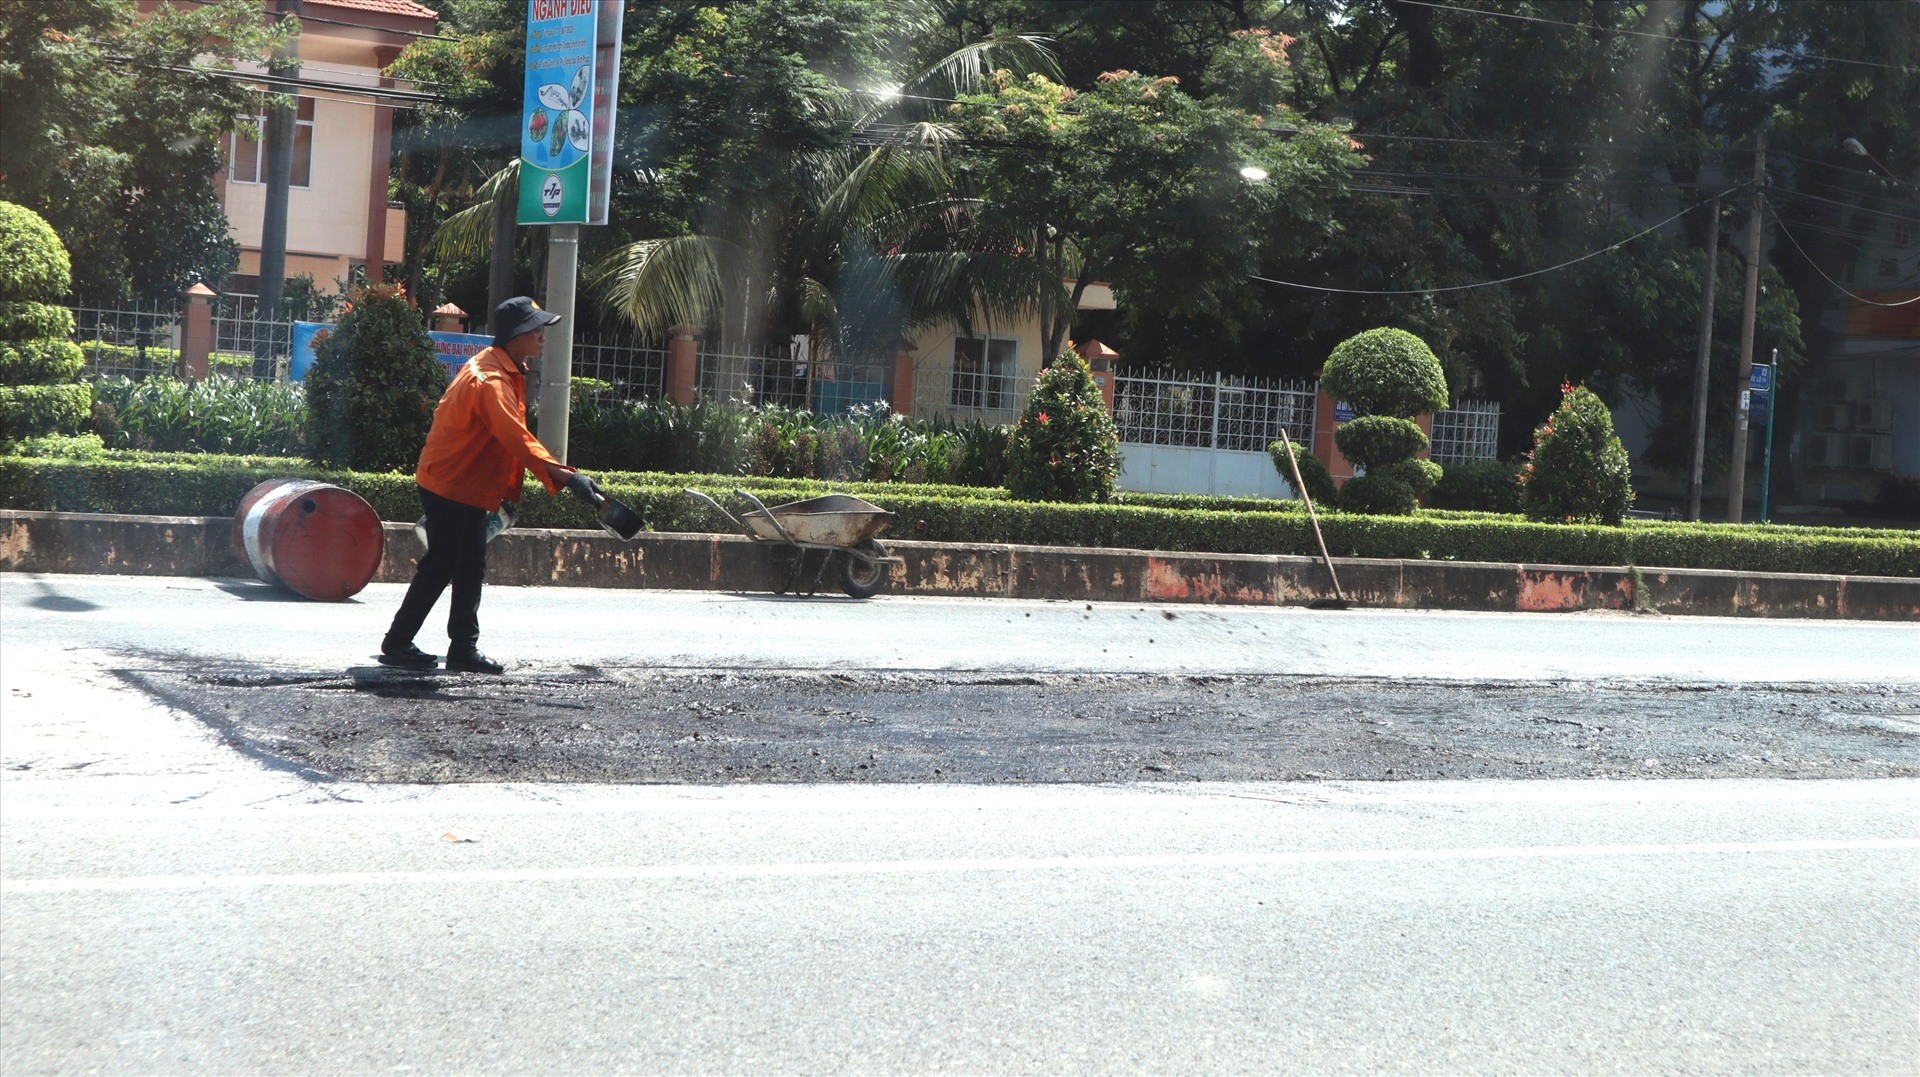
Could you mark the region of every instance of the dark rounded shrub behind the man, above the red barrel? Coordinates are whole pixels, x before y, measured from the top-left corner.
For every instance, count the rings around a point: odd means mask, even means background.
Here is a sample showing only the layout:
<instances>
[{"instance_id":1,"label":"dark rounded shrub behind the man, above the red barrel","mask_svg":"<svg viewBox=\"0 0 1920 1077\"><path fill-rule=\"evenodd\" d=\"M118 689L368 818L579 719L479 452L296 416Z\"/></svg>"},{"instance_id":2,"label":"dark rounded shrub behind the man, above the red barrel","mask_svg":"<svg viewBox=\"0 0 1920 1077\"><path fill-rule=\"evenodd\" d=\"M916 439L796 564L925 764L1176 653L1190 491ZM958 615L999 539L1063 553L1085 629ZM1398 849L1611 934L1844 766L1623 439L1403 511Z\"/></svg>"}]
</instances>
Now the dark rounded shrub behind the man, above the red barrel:
<instances>
[{"instance_id":1,"label":"dark rounded shrub behind the man, above the red barrel","mask_svg":"<svg viewBox=\"0 0 1920 1077\"><path fill-rule=\"evenodd\" d=\"M413 470L447 388L420 309L397 284L355 288L307 371L307 459Z\"/></svg>"}]
</instances>

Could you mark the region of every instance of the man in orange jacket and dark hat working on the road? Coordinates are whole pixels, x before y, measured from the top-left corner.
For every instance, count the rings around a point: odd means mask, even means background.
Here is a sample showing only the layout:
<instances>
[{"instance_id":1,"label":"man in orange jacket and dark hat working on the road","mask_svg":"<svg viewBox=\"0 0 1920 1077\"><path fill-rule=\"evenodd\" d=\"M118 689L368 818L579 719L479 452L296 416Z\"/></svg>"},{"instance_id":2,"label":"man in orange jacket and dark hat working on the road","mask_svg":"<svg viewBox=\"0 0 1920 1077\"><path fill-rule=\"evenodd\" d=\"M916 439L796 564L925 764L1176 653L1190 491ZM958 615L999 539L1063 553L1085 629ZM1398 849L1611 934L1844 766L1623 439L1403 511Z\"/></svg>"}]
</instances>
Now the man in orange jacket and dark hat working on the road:
<instances>
[{"instance_id":1,"label":"man in orange jacket and dark hat working on the road","mask_svg":"<svg viewBox=\"0 0 1920 1077\"><path fill-rule=\"evenodd\" d=\"M451 584L447 670L503 672L505 666L480 653L488 513L520 501L526 472L534 472L547 493L564 488L593 503L593 480L553 459L526 428L526 363L540 355L547 326L559 321L526 296L507 299L493 309L493 346L468 359L440 397L413 476L426 513L426 557L415 564L407 597L380 641L382 664L434 668L440 658L420 651L413 637Z\"/></svg>"}]
</instances>

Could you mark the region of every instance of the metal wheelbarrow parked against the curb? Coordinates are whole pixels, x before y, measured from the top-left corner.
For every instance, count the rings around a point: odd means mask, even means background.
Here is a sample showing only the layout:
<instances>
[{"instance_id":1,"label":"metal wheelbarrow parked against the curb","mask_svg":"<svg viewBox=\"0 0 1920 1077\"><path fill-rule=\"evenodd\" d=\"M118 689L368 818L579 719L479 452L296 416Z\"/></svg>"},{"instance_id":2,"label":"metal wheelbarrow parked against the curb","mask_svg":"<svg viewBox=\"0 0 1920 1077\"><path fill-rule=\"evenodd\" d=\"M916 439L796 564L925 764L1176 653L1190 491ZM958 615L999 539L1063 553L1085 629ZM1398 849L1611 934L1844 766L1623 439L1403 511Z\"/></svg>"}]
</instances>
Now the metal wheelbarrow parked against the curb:
<instances>
[{"instance_id":1,"label":"metal wheelbarrow parked against the curb","mask_svg":"<svg viewBox=\"0 0 1920 1077\"><path fill-rule=\"evenodd\" d=\"M887 530L893 513L872 501L828 493L766 507L753 493L737 490L735 493L753 501L753 511L735 516L699 490L687 493L712 505L753 541L770 545L776 595L793 591L810 597L833 570L841 591L870 599L887 584L887 566L904 564L874 538Z\"/></svg>"}]
</instances>

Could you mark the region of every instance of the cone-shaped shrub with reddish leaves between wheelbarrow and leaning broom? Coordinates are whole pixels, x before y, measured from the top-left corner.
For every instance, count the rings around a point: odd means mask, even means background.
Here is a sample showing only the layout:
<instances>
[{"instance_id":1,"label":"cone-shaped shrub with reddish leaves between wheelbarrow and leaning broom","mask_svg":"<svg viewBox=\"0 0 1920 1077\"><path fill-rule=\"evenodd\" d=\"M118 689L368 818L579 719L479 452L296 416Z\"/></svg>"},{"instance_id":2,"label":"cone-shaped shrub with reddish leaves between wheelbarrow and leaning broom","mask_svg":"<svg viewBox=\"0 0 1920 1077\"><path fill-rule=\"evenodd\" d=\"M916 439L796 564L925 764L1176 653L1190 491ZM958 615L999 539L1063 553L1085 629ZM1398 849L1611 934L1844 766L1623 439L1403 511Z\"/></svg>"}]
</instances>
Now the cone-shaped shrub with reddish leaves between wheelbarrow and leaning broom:
<instances>
[{"instance_id":1,"label":"cone-shaped shrub with reddish leaves between wheelbarrow and leaning broom","mask_svg":"<svg viewBox=\"0 0 1920 1077\"><path fill-rule=\"evenodd\" d=\"M1106 501L1119 476L1119 428L1087 361L1071 347L1033 382L1006 455L1018 501Z\"/></svg>"}]
</instances>

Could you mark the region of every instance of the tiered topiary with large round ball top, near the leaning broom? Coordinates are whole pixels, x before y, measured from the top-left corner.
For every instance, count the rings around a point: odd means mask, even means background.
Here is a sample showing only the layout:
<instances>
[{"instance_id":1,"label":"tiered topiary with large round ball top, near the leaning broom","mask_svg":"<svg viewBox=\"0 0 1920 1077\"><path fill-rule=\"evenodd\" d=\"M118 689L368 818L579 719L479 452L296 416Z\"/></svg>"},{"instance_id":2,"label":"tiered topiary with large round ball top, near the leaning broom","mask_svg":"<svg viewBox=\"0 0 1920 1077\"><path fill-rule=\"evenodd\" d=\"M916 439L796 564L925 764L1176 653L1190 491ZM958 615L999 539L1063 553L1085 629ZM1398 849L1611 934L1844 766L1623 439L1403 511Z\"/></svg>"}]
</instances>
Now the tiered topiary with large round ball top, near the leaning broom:
<instances>
[{"instance_id":1,"label":"tiered topiary with large round ball top, near the leaning broom","mask_svg":"<svg viewBox=\"0 0 1920 1077\"><path fill-rule=\"evenodd\" d=\"M1321 388L1354 407L1357 419L1334 428L1340 453L1367 468L1346 480L1340 507L1350 513L1405 515L1440 478L1440 465L1415 461L1427 434L1415 415L1446 407L1446 372L1427 342L1404 328L1369 328L1327 357Z\"/></svg>"}]
</instances>

